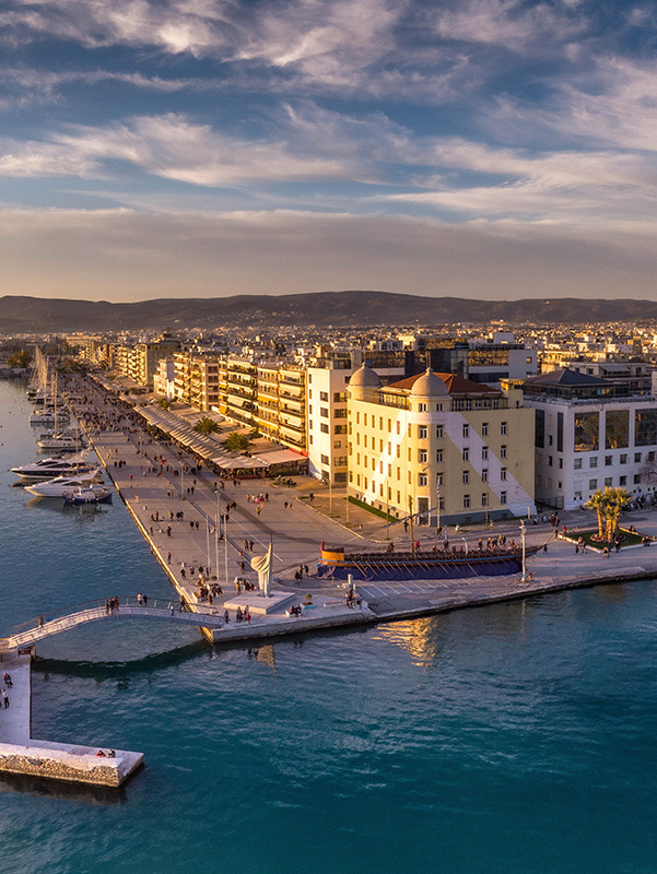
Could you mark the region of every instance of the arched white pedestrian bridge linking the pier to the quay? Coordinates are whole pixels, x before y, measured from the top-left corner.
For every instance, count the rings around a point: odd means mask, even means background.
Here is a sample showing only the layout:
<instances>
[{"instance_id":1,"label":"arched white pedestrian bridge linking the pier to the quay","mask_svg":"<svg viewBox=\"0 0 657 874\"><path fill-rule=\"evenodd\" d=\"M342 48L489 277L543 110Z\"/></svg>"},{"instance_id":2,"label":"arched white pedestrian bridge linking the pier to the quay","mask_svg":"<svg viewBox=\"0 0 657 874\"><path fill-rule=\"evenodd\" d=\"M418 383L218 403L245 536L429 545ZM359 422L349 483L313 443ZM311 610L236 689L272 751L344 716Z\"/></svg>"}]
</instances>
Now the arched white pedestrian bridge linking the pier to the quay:
<instances>
[{"instance_id":1,"label":"arched white pedestrian bridge linking the pier to the quay","mask_svg":"<svg viewBox=\"0 0 657 874\"><path fill-rule=\"evenodd\" d=\"M119 605L108 610L105 601L84 601L56 614L37 616L19 625L12 635L0 638L0 651L28 647L47 637L69 631L90 622L119 622L120 619L166 619L179 625L196 625L201 628L222 628L225 623L223 609L206 604L183 607L171 599L148 599L148 605L139 603L134 595L119 598Z\"/></svg>"}]
</instances>

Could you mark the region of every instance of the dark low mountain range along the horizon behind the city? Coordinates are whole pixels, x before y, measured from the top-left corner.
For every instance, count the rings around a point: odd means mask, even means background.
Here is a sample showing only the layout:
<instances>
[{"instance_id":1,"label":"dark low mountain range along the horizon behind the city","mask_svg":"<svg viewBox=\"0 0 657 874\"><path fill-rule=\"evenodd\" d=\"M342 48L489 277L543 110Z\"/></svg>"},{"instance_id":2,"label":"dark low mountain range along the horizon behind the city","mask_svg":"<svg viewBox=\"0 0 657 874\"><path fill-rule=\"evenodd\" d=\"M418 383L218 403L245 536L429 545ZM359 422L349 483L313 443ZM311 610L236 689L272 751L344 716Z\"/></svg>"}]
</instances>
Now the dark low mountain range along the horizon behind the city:
<instances>
[{"instance_id":1,"label":"dark low mountain range along the horizon behind the city","mask_svg":"<svg viewBox=\"0 0 657 874\"><path fill-rule=\"evenodd\" d=\"M553 297L477 300L423 297L390 292L310 292L290 295L159 298L130 304L106 300L0 297L0 334L75 331L138 331L179 328L221 329L255 326L348 328L457 322L590 324L657 319L657 302Z\"/></svg>"}]
</instances>

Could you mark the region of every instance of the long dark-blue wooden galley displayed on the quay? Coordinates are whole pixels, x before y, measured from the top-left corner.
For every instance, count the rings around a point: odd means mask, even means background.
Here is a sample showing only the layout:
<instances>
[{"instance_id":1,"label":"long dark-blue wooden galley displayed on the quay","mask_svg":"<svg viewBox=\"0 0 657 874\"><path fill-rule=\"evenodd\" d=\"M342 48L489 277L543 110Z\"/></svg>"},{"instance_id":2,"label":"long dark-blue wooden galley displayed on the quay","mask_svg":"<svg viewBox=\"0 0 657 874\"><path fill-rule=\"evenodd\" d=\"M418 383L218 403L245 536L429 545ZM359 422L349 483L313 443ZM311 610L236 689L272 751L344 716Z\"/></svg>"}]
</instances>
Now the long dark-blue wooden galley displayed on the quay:
<instances>
[{"instance_id":1,"label":"long dark-blue wooden galley displayed on the quay","mask_svg":"<svg viewBox=\"0 0 657 874\"><path fill-rule=\"evenodd\" d=\"M527 547L526 556L541 547ZM345 580L455 579L459 577L497 577L523 569L519 546L494 550L466 550L450 546L437 552L347 553L343 546L325 548L321 544L317 576Z\"/></svg>"}]
</instances>

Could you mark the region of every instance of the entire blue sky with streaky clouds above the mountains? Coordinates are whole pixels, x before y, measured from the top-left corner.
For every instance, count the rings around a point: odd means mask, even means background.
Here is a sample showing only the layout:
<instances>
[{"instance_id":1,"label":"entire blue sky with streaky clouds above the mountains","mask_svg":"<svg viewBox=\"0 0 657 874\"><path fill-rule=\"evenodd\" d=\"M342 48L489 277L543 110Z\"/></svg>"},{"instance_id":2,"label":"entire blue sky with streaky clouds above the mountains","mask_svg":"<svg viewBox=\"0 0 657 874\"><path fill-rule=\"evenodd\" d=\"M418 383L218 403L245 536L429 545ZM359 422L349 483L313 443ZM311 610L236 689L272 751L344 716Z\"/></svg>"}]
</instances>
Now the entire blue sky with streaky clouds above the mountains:
<instances>
[{"instance_id":1,"label":"entire blue sky with streaky clouds above the mountains","mask_svg":"<svg viewBox=\"0 0 657 874\"><path fill-rule=\"evenodd\" d=\"M3 0L0 295L657 297L657 4Z\"/></svg>"}]
</instances>

